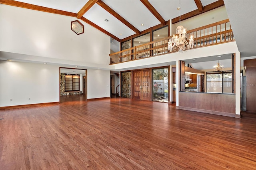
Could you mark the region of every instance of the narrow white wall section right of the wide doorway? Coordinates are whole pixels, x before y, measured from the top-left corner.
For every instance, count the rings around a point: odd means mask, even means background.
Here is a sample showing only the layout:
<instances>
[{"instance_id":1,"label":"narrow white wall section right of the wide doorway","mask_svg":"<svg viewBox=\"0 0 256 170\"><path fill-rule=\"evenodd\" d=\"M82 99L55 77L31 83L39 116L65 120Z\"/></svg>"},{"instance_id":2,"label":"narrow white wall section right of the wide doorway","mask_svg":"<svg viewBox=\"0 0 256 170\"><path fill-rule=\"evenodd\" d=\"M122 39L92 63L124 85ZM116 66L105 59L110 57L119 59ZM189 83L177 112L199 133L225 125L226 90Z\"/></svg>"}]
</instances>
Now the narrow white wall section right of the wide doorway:
<instances>
[{"instance_id":1,"label":"narrow white wall section right of the wide doorway","mask_svg":"<svg viewBox=\"0 0 256 170\"><path fill-rule=\"evenodd\" d=\"M110 97L110 71L87 70L87 99Z\"/></svg>"}]
</instances>

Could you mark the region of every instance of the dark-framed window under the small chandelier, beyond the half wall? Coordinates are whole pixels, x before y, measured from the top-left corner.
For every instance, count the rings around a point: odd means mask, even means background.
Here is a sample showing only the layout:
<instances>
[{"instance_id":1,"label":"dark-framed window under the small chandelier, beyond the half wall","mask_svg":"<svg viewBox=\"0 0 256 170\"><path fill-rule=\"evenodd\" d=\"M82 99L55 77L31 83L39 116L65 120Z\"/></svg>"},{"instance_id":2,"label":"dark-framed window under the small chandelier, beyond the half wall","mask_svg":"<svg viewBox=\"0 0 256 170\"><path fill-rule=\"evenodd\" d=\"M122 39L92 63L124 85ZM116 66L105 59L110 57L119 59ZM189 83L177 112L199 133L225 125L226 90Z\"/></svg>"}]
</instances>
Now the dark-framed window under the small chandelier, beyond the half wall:
<instances>
[{"instance_id":1,"label":"dark-framed window under the small chandelier, beyond the half wall","mask_svg":"<svg viewBox=\"0 0 256 170\"><path fill-rule=\"evenodd\" d=\"M231 71L207 72L206 89L208 93L232 93Z\"/></svg>"}]
</instances>

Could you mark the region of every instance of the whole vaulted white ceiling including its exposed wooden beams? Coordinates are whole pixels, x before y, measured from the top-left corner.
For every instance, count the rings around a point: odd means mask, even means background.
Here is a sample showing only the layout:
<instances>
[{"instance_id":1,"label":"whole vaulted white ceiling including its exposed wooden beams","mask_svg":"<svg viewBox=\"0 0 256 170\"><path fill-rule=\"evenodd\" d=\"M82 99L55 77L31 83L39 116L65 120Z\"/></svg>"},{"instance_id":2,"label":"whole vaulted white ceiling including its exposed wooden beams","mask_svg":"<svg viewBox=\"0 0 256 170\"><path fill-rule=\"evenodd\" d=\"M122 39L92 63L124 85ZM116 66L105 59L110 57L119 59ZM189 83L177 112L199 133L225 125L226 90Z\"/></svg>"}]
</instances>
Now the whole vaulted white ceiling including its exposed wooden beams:
<instances>
[{"instance_id":1,"label":"whole vaulted white ceiling including its exposed wooden beams","mask_svg":"<svg viewBox=\"0 0 256 170\"><path fill-rule=\"evenodd\" d=\"M1 0L2 4L72 16L120 41L158 24L186 20L224 5L223 0ZM179 4L180 3L180 4ZM143 25L143 26L142 26Z\"/></svg>"}]
</instances>

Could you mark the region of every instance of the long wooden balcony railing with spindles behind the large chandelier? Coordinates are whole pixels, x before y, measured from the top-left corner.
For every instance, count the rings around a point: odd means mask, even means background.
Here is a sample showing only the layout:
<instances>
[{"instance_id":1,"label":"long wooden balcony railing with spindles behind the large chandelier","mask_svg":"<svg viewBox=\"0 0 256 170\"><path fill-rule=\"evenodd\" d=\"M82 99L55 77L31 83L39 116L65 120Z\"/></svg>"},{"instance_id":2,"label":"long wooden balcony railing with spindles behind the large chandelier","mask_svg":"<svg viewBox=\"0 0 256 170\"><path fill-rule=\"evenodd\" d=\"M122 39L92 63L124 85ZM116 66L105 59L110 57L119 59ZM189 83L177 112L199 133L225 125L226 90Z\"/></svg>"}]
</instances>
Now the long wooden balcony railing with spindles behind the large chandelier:
<instances>
[{"instance_id":1,"label":"long wooden balcony railing with spindles behind the large chandelier","mask_svg":"<svg viewBox=\"0 0 256 170\"><path fill-rule=\"evenodd\" d=\"M228 19L187 31L187 37L190 38L191 35L194 37L194 48L226 43L235 40ZM168 41L170 39L172 40L172 36L112 53L109 55L110 64L123 63L126 61L178 51L178 48L172 52L168 51Z\"/></svg>"}]
</instances>

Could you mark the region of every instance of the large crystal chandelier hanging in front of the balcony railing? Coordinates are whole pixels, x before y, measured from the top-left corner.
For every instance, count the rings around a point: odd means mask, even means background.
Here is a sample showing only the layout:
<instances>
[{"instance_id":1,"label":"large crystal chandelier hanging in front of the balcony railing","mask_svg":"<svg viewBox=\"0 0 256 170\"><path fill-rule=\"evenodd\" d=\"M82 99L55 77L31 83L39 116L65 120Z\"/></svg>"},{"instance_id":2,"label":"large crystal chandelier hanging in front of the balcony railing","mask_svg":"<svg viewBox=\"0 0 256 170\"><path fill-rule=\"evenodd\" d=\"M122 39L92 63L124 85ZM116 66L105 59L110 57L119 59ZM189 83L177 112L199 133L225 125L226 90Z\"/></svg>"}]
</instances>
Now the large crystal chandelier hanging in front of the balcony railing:
<instances>
[{"instance_id":1,"label":"large crystal chandelier hanging in front of the balcony railing","mask_svg":"<svg viewBox=\"0 0 256 170\"><path fill-rule=\"evenodd\" d=\"M180 12L180 7L178 8ZM172 40L170 39L168 42L168 50L170 52L176 51L176 47L178 47L179 53L182 51L186 51L190 48L194 47L194 38L190 37L189 42L187 42L187 32L184 27L180 24L180 26L176 29L176 36L173 35Z\"/></svg>"}]
</instances>

